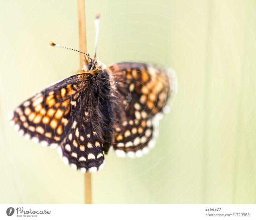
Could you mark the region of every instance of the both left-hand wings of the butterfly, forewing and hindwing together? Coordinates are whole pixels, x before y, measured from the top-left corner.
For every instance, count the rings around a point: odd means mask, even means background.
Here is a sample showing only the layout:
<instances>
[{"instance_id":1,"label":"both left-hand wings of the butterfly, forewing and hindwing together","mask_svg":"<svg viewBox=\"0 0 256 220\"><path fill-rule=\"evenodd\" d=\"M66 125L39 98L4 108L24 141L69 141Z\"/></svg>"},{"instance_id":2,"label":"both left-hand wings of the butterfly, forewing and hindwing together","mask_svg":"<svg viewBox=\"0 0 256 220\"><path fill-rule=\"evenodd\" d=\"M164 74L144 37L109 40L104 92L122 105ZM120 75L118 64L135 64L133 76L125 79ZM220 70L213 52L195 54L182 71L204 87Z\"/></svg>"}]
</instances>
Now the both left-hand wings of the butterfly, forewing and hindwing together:
<instances>
[{"instance_id":1,"label":"both left-hand wings of the butterfly, forewing and hindwing together","mask_svg":"<svg viewBox=\"0 0 256 220\"><path fill-rule=\"evenodd\" d=\"M88 74L68 77L23 102L8 118L25 138L58 147L64 163L97 171L104 156L101 134L93 133L92 110L86 109L87 90Z\"/></svg>"}]
</instances>

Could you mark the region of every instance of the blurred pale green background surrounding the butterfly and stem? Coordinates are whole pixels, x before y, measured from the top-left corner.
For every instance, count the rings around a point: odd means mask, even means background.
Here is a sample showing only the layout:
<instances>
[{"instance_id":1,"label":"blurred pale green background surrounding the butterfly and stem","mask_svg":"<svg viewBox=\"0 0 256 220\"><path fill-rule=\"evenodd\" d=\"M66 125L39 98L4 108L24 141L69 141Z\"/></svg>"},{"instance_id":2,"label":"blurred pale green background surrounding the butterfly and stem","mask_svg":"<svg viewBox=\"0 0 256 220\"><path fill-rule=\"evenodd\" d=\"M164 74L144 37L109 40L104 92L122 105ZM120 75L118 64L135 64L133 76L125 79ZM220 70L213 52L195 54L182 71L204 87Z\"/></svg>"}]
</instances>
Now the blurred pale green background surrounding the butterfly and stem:
<instances>
[{"instance_id":1,"label":"blurred pale green background surrounding the butterfly and stem","mask_svg":"<svg viewBox=\"0 0 256 220\"><path fill-rule=\"evenodd\" d=\"M147 156L106 156L92 175L93 203L255 204L256 2L128 2L86 1L88 52L100 12L100 60L173 67L179 91ZM79 67L77 53L48 46L78 49L76 1L2 1L0 24L0 203L83 203L84 174L6 119Z\"/></svg>"}]
</instances>

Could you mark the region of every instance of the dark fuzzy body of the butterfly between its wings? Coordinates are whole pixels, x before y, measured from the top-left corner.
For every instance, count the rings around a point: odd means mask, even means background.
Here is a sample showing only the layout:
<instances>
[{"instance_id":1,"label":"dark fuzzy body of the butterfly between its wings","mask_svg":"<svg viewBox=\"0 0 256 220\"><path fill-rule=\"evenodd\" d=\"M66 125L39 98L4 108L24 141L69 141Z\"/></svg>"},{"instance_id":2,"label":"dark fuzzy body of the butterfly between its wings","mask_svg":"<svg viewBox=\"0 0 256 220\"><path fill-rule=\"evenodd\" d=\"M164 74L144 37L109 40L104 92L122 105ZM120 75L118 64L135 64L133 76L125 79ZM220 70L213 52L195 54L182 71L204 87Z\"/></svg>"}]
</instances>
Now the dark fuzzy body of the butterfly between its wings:
<instances>
[{"instance_id":1,"label":"dark fuzzy body of the butterfly between its wings","mask_svg":"<svg viewBox=\"0 0 256 220\"><path fill-rule=\"evenodd\" d=\"M88 108L92 127L99 134L104 152L107 153L112 141L116 88L107 66L95 58L93 62L95 62L95 68L87 72L88 85L85 89L84 102Z\"/></svg>"}]
</instances>

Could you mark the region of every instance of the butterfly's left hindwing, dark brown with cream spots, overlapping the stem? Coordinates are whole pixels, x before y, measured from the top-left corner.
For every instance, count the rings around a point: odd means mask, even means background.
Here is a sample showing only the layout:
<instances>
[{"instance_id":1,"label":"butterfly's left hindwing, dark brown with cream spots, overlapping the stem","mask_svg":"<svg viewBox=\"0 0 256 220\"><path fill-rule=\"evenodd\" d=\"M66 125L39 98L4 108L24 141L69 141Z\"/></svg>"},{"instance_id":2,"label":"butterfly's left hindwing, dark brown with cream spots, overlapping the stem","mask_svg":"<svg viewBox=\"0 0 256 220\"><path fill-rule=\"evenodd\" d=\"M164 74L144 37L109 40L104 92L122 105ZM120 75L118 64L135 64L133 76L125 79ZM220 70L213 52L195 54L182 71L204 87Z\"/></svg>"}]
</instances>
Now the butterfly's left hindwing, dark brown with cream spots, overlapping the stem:
<instances>
[{"instance_id":1,"label":"butterfly's left hindwing, dark brown with cream spots, overlapping the stem","mask_svg":"<svg viewBox=\"0 0 256 220\"><path fill-rule=\"evenodd\" d=\"M63 144L58 147L63 162L83 172L96 172L104 166L101 134L94 130L90 115L90 110L81 108L72 118Z\"/></svg>"}]
</instances>

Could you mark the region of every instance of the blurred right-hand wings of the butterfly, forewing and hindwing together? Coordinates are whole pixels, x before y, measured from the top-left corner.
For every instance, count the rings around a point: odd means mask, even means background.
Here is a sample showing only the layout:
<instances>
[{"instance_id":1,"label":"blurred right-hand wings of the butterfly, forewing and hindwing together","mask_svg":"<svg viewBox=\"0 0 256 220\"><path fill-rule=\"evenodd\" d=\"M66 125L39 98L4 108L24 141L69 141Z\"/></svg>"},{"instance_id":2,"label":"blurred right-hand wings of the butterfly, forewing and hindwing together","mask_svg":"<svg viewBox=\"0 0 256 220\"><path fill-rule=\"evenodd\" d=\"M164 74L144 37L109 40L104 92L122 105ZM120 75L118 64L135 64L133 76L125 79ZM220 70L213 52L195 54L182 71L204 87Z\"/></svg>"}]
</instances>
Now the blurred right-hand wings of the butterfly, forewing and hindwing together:
<instances>
[{"instance_id":1,"label":"blurred right-hand wings of the butterfly, forewing and hindwing together","mask_svg":"<svg viewBox=\"0 0 256 220\"><path fill-rule=\"evenodd\" d=\"M114 110L113 147L117 156L140 157L155 144L161 112L177 91L176 74L143 63L118 63L109 68L119 100Z\"/></svg>"}]
</instances>

